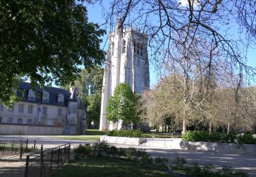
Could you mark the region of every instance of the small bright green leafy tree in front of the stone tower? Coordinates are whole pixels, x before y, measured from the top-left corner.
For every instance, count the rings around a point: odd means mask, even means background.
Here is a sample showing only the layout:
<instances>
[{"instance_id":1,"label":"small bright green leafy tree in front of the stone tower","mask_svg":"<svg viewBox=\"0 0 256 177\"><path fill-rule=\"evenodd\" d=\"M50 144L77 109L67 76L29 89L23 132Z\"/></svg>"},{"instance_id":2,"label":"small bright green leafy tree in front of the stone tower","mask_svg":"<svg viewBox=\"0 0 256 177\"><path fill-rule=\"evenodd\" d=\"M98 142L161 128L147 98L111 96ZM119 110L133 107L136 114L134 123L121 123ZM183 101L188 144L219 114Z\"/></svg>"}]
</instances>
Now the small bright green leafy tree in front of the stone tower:
<instances>
[{"instance_id":1,"label":"small bright green leafy tree in front of the stone tower","mask_svg":"<svg viewBox=\"0 0 256 177\"><path fill-rule=\"evenodd\" d=\"M132 93L128 84L117 85L113 96L109 97L106 118L113 122L122 120L124 127L127 127L129 123L137 123L139 121L136 110L137 101L138 97Z\"/></svg>"}]
</instances>

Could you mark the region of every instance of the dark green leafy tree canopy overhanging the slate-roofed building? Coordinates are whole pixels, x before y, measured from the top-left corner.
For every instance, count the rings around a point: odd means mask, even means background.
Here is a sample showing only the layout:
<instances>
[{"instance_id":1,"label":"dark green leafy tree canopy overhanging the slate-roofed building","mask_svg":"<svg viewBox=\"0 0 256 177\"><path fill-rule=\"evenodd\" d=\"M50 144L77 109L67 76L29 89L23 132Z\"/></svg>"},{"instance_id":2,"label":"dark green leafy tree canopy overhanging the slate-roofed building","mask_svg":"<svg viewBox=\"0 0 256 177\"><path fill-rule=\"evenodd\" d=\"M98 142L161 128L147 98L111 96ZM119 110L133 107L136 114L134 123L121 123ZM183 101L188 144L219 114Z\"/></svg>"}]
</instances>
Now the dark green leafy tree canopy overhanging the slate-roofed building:
<instances>
[{"instance_id":1,"label":"dark green leafy tree canopy overhanging the slate-roofed building","mask_svg":"<svg viewBox=\"0 0 256 177\"><path fill-rule=\"evenodd\" d=\"M35 88L55 82L66 85L81 71L101 65L105 31L88 22L79 1L0 1L0 97L14 101L20 79Z\"/></svg>"}]
</instances>

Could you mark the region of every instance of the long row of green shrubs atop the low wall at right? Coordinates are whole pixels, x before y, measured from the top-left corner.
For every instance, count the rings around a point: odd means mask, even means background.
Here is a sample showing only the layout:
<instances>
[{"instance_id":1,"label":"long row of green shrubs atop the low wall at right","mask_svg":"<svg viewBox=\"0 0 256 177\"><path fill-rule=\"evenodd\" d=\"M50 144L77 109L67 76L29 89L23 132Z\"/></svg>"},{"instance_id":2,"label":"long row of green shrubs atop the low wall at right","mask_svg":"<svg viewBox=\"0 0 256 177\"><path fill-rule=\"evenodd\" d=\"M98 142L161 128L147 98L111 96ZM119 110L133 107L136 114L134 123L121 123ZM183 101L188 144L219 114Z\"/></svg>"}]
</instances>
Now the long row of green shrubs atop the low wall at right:
<instances>
[{"instance_id":1,"label":"long row of green shrubs atop the low wall at right","mask_svg":"<svg viewBox=\"0 0 256 177\"><path fill-rule=\"evenodd\" d=\"M223 143L239 143L239 144L256 144L253 135L238 134L233 131L225 132L212 132L208 131L186 131L182 135L182 140L190 142L223 142Z\"/></svg>"}]
</instances>

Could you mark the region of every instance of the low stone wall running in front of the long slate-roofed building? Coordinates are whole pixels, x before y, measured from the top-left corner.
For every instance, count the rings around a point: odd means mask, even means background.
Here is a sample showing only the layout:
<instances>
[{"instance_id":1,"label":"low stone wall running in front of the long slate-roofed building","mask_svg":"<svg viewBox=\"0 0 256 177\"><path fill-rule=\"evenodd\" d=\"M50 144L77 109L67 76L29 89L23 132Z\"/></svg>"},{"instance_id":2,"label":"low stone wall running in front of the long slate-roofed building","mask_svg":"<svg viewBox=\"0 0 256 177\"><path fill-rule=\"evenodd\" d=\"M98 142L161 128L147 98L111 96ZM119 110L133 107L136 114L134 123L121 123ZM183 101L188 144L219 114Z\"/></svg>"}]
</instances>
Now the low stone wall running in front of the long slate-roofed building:
<instances>
[{"instance_id":1,"label":"low stone wall running in front of the long slate-roofed building","mask_svg":"<svg viewBox=\"0 0 256 177\"><path fill-rule=\"evenodd\" d=\"M63 127L0 125L0 135L61 135Z\"/></svg>"}]
</instances>

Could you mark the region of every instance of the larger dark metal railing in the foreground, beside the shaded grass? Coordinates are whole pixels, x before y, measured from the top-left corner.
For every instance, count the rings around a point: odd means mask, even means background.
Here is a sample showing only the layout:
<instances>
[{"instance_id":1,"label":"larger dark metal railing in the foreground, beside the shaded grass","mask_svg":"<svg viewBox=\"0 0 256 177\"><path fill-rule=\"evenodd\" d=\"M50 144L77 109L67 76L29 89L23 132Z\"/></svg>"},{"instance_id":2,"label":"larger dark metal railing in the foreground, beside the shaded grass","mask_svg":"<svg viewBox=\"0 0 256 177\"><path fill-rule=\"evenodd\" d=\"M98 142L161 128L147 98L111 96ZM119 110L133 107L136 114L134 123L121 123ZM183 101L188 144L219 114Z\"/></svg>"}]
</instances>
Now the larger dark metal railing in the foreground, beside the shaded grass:
<instances>
[{"instance_id":1,"label":"larger dark metal railing in the foreground, beside the shaded grass","mask_svg":"<svg viewBox=\"0 0 256 177\"><path fill-rule=\"evenodd\" d=\"M70 161L70 144L64 144L55 148L42 150L39 153L27 155L25 177L51 176Z\"/></svg>"}]
</instances>

